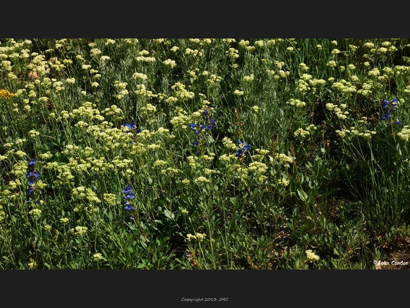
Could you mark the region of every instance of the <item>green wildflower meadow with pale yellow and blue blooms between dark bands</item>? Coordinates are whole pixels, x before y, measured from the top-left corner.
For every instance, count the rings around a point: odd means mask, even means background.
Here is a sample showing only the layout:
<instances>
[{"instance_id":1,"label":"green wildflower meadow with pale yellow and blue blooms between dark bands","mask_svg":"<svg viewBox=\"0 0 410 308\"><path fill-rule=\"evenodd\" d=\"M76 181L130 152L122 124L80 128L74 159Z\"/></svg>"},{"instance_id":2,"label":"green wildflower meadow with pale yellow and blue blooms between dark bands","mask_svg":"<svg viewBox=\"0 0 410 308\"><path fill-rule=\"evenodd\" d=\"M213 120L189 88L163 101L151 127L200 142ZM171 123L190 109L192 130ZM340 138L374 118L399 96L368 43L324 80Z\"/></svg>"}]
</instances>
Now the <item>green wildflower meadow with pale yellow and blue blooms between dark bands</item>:
<instances>
[{"instance_id":1,"label":"green wildflower meadow with pale yellow and blue blooms between dark bands","mask_svg":"<svg viewBox=\"0 0 410 308\"><path fill-rule=\"evenodd\" d=\"M410 40L2 38L0 61L0 268L410 268Z\"/></svg>"}]
</instances>

